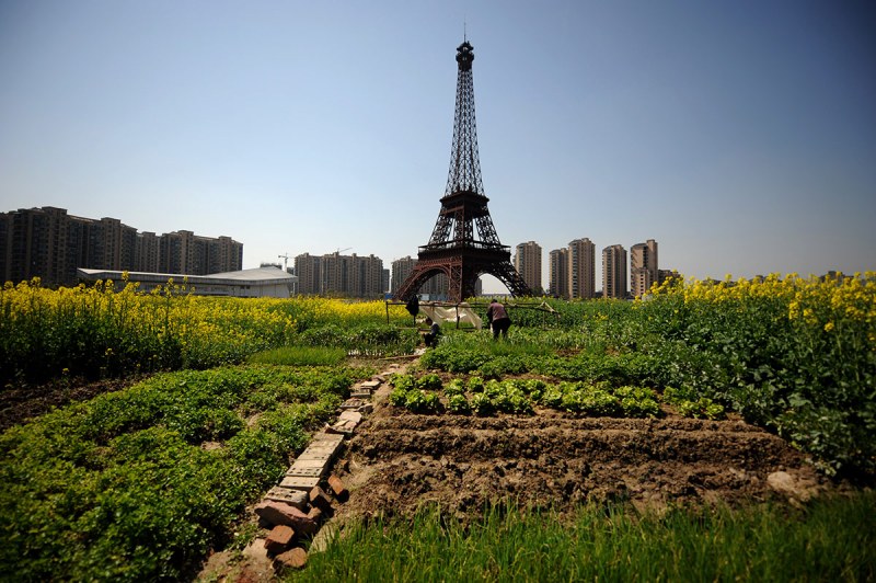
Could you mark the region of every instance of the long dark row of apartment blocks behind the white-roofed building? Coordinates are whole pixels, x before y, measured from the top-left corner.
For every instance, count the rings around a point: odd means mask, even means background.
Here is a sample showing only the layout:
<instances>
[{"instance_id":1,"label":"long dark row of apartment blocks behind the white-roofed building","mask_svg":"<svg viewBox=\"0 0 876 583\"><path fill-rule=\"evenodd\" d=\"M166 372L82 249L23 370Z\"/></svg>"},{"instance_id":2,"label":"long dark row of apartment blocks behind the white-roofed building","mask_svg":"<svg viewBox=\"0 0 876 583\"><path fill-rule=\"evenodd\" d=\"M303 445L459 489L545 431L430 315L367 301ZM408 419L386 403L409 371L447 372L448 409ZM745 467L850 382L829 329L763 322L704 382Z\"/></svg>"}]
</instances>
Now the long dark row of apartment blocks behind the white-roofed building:
<instances>
[{"instance_id":1,"label":"long dark row of apartment blocks behind the white-roofed building","mask_svg":"<svg viewBox=\"0 0 876 583\"><path fill-rule=\"evenodd\" d=\"M155 237L115 218L74 217L43 207L0 214L0 278L41 277L45 285L74 285L77 267L208 275L241 270L243 244L191 231Z\"/></svg>"}]
</instances>

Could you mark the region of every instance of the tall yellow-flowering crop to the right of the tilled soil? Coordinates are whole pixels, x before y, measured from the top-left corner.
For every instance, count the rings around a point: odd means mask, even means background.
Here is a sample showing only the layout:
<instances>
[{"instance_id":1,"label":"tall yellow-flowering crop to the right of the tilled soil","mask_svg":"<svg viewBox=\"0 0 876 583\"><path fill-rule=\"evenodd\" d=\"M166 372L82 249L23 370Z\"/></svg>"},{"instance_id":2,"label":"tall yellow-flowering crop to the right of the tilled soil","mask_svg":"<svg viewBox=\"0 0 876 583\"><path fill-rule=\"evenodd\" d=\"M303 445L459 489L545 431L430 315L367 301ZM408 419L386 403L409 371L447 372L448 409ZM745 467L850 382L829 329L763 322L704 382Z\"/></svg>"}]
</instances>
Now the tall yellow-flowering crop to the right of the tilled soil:
<instances>
[{"instance_id":1,"label":"tall yellow-flowering crop to the right of the tilled soil","mask_svg":"<svg viewBox=\"0 0 876 583\"><path fill-rule=\"evenodd\" d=\"M636 308L675 382L776 431L829 471L876 469L876 272L675 278Z\"/></svg>"}]
</instances>

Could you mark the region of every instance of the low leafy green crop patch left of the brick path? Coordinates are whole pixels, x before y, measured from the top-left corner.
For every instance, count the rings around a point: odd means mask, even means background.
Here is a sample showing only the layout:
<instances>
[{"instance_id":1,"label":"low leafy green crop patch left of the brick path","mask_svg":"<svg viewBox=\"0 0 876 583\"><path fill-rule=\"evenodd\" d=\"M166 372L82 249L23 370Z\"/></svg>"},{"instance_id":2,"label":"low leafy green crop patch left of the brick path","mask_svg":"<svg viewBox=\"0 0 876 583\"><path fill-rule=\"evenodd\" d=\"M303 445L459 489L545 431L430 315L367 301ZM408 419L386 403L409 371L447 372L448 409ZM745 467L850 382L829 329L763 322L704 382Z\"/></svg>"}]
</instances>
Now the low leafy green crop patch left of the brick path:
<instances>
[{"instance_id":1,"label":"low leafy green crop patch left of the brick path","mask_svg":"<svg viewBox=\"0 0 876 583\"><path fill-rule=\"evenodd\" d=\"M369 373L169 373L7 431L0 571L21 580L191 575Z\"/></svg>"}]
</instances>

